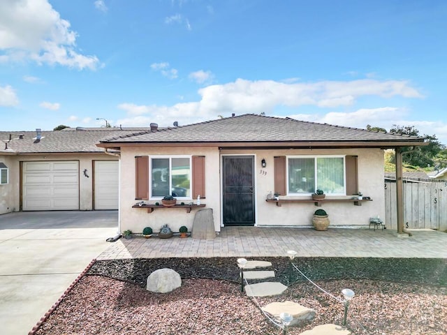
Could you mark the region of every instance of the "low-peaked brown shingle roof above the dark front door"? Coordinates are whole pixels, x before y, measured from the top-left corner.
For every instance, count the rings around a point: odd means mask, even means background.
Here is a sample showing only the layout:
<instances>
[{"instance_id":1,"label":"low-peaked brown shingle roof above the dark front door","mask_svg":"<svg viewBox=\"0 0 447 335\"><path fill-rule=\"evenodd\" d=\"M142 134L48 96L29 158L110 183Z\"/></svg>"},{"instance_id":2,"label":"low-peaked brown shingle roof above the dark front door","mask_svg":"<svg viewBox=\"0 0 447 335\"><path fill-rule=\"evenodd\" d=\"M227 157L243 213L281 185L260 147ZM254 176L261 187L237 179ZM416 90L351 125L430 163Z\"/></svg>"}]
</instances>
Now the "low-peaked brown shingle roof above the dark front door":
<instances>
[{"instance_id":1,"label":"low-peaked brown shingle roof above the dark front door","mask_svg":"<svg viewBox=\"0 0 447 335\"><path fill-rule=\"evenodd\" d=\"M379 133L358 128L317 124L291 118L243 114L212 121L166 128L140 135L110 137L109 143L201 142L423 142L422 138ZM411 145L411 144L409 144Z\"/></svg>"}]
</instances>

